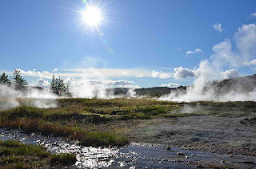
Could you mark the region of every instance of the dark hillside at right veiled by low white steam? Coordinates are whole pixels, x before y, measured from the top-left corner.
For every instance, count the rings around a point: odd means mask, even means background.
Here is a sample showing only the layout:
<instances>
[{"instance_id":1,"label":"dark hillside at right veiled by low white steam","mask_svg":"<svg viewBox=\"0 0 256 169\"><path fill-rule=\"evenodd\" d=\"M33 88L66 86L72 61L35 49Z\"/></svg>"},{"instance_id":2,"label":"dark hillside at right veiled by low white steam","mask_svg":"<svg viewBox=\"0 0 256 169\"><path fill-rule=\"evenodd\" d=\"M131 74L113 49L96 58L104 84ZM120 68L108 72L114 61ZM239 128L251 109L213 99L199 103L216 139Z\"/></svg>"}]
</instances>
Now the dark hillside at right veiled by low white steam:
<instances>
[{"instance_id":1,"label":"dark hillside at right veiled by low white steam","mask_svg":"<svg viewBox=\"0 0 256 169\"><path fill-rule=\"evenodd\" d=\"M205 84L188 86L185 89L174 89L159 100L191 101L256 101L256 75L236 77L223 81L210 81Z\"/></svg>"}]
</instances>

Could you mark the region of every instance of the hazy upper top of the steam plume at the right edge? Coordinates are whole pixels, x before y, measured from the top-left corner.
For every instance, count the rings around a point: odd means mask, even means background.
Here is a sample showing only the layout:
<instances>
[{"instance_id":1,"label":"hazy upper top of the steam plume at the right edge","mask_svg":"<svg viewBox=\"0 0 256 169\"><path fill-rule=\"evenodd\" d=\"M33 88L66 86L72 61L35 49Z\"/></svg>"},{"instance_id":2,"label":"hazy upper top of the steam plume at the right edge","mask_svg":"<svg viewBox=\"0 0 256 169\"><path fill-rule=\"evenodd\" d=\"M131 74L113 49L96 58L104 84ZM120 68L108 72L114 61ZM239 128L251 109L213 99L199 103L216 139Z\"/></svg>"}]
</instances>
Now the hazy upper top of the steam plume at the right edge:
<instances>
[{"instance_id":1,"label":"hazy upper top of the steam plume at the right edge","mask_svg":"<svg viewBox=\"0 0 256 169\"><path fill-rule=\"evenodd\" d=\"M214 54L210 57L212 65L216 68L225 66L238 68L244 65L254 65L256 56L256 25L244 25L234 34L234 45L237 51L232 49L229 39L214 45Z\"/></svg>"}]
</instances>

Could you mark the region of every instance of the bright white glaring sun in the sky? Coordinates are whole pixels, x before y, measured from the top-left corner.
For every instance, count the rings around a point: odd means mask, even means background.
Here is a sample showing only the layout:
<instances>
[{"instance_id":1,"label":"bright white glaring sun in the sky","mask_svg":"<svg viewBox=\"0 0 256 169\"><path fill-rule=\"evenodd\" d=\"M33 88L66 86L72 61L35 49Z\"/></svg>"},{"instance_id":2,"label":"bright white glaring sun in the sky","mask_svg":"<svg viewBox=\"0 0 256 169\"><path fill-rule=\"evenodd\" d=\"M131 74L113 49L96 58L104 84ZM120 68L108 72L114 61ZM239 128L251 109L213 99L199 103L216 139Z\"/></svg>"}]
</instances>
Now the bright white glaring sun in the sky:
<instances>
[{"instance_id":1,"label":"bright white glaring sun in the sky","mask_svg":"<svg viewBox=\"0 0 256 169\"><path fill-rule=\"evenodd\" d=\"M90 26L99 26L102 22L101 10L96 6L87 6L86 10L82 11L82 22Z\"/></svg>"}]
</instances>

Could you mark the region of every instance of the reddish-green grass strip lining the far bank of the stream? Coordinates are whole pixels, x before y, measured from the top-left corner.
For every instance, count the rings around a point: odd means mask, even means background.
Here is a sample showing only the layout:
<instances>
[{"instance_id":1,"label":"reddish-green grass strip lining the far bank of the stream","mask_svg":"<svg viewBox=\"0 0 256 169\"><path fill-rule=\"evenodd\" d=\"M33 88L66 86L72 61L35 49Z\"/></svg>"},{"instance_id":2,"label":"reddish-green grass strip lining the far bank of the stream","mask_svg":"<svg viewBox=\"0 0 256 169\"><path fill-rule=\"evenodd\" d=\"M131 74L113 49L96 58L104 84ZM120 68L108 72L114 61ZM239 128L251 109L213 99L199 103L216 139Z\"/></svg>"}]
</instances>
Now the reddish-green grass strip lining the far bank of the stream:
<instances>
[{"instance_id":1,"label":"reddish-green grass strip lining the far bank of the stream","mask_svg":"<svg viewBox=\"0 0 256 169\"><path fill-rule=\"evenodd\" d=\"M21 128L24 132L39 132L43 136L62 136L78 140L84 146L122 146L129 143L125 136L110 132L86 131L78 127L66 127L43 120L17 119L0 121L0 127Z\"/></svg>"}]
</instances>

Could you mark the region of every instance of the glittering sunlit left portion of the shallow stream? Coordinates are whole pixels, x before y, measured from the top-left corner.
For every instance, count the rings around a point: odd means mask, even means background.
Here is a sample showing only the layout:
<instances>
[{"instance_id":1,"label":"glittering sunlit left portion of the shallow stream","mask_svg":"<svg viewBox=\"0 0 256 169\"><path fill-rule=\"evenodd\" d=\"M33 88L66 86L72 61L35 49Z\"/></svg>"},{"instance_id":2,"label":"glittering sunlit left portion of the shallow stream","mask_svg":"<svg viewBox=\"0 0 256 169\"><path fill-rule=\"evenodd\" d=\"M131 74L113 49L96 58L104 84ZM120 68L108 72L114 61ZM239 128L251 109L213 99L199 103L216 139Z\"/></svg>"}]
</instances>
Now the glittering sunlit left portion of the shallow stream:
<instances>
[{"instance_id":1,"label":"glittering sunlit left portion of the shallow stream","mask_svg":"<svg viewBox=\"0 0 256 169\"><path fill-rule=\"evenodd\" d=\"M22 143L39 144L53 153L75 153L78 168L110 167L114 163L113 158L118 157L117 147L82 147L78 142L66 142L61 138L45 137L40 135L26 135L17 131L0 129L1 140L19 140ZM120 163L120 167L125 164Z\"/></svg>"}]
</instances>

